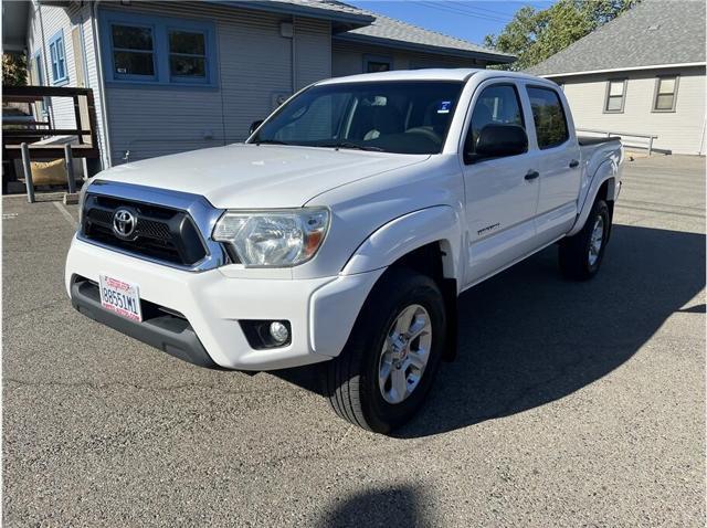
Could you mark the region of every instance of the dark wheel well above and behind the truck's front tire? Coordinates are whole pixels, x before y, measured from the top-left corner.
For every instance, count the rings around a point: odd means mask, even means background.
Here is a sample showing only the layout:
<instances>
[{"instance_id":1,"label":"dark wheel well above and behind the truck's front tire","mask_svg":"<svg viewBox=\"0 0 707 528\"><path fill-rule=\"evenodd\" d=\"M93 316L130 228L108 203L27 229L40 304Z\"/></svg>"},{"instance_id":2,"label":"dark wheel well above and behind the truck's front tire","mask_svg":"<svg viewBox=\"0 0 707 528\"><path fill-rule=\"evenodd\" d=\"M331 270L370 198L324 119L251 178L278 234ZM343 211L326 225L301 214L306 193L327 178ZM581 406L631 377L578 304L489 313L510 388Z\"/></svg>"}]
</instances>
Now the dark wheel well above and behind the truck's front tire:
<instances>
[{"instance_id":1,"label":"dark wheel well above and behind the truck's front tire","mask_svg":"<svg viewBox=\"0 0 707 528\"><path fill-rule=\"evenodd\" d=\"M389 268L407 267L429 276L444 296L446 309L447 335L443 358L452 361L457 349L457 302L456 278L453 276L452 252L444 241L432 242L418 247L393 262Z\"/></svg>"}]
</instances>

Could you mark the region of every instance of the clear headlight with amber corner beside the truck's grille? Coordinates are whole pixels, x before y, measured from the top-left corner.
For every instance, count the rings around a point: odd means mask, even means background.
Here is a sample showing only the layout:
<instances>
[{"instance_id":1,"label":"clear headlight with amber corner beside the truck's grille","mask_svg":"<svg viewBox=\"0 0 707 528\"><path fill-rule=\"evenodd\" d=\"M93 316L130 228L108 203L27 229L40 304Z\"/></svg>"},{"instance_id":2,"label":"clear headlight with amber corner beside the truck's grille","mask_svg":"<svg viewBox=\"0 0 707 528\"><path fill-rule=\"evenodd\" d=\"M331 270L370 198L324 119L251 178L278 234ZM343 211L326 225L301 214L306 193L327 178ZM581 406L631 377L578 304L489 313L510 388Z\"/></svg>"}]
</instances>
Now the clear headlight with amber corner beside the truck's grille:
<instances>
[{"instance_id":1,"label":"clear headlight with amber corner beside the truck's grille","mask_svg":"<svg viewBox=\"0 0 707 528\"><path fill-rule=\"evenodd\" d=\"M326 209L226 211L213 240L230 244L244 266L296 266L312 258L329 226Z\"/></svg>"}]
</instances>

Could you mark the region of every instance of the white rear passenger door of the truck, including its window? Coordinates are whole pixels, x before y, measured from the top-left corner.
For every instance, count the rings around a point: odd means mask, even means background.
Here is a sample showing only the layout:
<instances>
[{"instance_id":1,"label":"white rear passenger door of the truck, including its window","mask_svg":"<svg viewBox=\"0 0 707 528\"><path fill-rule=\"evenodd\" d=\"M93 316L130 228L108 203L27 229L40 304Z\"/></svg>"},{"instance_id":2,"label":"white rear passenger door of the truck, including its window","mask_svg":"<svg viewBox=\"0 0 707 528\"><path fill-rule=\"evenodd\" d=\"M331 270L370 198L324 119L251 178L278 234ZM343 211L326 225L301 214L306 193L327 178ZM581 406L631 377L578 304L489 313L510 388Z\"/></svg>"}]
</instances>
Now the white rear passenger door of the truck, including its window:
<instances>
[{"instance_id":1,"label":"white rear passenger door of the truck, including its window","mask_svg":"<svg viewBox=\"0 0 707 528\"><path fill-rule=\"evenodd\" d=\"M541 244L562 236L577 218L581 168L580 154L569 112L558 89L525 86L532 114L532 129L539 159L537 241Z\"/></svg>"}]
</instances>

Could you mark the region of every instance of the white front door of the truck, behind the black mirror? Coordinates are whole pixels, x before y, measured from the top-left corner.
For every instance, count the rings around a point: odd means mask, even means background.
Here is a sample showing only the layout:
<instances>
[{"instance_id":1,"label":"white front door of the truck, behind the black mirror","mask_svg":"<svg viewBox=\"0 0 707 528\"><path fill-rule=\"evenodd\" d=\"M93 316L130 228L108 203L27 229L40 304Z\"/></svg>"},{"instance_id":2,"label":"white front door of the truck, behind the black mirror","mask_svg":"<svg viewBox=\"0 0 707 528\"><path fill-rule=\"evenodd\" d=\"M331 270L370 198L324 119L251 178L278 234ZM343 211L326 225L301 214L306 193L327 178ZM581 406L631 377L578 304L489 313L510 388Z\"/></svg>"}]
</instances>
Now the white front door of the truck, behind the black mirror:
<instances>
[{"instance_id":1,"label":"white front door of the truck, behind the black mirror","mask_svg":"<svg viewBox=\"0 0 707 528\"><path fill-rule=\"evenodd\" d=\"M474 159L476 141L486 125L516 125L524 129L527 109L514 81L482 84L472 101L464 145L466 193L467 274L472 285L505 267L534 249L539 170L535 151Z\"/></svg>"}]
</instances>

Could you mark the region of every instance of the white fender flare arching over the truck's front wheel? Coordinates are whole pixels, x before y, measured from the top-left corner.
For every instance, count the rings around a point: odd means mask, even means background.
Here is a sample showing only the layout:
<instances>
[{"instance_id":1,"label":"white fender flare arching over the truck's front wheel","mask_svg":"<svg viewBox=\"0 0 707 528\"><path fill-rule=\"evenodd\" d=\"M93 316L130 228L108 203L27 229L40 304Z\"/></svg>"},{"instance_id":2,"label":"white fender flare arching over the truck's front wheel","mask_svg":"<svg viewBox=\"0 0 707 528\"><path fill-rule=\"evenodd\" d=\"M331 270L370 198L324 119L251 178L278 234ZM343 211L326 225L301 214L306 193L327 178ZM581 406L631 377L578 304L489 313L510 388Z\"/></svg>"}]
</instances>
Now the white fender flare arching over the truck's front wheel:
<instances>
[{"instance_id":1,"label":"white fender flare arching over the truck's front wheel","mask_svg":"<svg viewBox=\"0 0 707 528\"><path fill-rule=\"evenodd\" d=\"M450 205L435 205L391 220L376 230L350 256L341 275L386 267L432 242L443 251L444 276L462 276L462 222Z\"/></svg>"}]
</instances>

